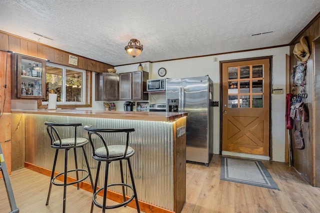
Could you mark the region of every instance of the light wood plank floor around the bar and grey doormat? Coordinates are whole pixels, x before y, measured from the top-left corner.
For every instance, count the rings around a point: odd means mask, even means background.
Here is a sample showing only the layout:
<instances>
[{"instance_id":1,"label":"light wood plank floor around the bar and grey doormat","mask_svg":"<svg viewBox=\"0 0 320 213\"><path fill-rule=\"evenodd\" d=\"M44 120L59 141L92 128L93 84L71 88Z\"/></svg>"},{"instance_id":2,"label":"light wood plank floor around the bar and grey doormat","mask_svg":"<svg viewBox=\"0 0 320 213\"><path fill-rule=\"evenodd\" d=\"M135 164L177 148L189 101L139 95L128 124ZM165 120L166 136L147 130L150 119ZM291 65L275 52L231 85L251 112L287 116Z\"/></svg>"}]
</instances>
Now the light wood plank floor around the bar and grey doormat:
<instances>
[{"instance_id":1,"label":"light wood plank floor around the bar and grey doormat","mask_svg":"<svg viewBox=\"0 0 320 213\"><path fill-rule=\"evenodd\" d=\"M293 167L285 163L263 161L280 190L220 180L220 155L209 166L187 163L186 212L320 212L320 188L312 187ZM62 187L53 186L50 203L45 205L49 177L23 168L13 171L10 181L20 212L61 212ZM91 193L67 187L67 212L89 212ZM0 179L0 212L10 210ZM94 212L101 212L94 207ZM107 212L136 212L121 207Z\"/></svg>"}]
</instances>

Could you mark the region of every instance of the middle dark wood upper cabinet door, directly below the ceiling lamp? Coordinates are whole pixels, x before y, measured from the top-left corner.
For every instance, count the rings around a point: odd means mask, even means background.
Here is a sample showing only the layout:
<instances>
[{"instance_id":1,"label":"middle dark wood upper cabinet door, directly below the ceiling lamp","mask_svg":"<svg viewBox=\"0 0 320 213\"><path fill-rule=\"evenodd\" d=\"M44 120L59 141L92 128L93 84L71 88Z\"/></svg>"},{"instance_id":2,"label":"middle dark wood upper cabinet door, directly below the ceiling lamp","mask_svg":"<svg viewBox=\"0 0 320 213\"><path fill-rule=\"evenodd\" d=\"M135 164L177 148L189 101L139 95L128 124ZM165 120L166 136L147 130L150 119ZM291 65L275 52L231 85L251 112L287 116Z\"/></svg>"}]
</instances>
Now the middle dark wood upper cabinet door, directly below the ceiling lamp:
<instances>
[{"instance_id":1,"label":"middle dark wood upper cabinet door, directly below the ceiling lamp","mask_svg":"<svg viewBox=\"0 0 320 213\"><path fill-rule=\"evenodd\" d=\"M119 73L119 99L132 99L132 75L131 72Z\"/></svg>"}]
</instances>

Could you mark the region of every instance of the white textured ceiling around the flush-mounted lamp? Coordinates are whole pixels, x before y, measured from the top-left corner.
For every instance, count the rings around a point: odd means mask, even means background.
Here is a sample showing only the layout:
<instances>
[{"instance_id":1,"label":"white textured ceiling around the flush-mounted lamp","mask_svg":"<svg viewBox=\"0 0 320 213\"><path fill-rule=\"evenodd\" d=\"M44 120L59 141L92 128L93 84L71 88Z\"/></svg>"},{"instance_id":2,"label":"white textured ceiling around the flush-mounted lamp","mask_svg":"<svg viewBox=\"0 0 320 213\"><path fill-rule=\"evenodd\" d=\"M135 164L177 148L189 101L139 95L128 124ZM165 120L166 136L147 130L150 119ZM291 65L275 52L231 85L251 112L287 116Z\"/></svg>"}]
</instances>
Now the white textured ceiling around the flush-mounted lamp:
<instances>
[{"instance_id":1,"label":"white textured ceiling around the flush-mounted lamp","mask_svg":"<svg viewBox=\"0 0 320 213\"><path fill-rule=\"evenodd\" d=\"M288 44L319 11L320 0L0 0L0 30L120 65ZM130 38L143 44L135 58Z\"/></svg>"}]
</instances>

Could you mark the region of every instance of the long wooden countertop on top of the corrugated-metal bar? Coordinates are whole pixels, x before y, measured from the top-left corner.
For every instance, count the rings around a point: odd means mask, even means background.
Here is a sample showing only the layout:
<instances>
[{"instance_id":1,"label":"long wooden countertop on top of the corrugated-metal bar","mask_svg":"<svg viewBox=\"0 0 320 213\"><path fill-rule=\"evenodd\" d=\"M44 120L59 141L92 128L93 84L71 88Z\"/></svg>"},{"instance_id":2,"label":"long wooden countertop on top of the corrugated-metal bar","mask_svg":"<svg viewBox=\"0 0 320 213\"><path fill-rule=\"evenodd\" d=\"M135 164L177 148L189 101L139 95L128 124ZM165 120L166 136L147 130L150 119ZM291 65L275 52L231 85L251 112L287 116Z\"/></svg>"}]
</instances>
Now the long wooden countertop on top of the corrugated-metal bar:
<instances>
[{"instance_id":1,"label":"long wooden countertop on top of the corrugated-metal bar","mask_svg":"<svg viewBox=\"0 0 320 213\"><path fill-rule=\"evenodd\" d=\"M99 117L129 120L171 121L187 116L187 112L154 112L154 111L104 111L104 110L77 110L77 109L12 109L12 113L46 114L77 117Z\"/></svg>"}]
</instances>

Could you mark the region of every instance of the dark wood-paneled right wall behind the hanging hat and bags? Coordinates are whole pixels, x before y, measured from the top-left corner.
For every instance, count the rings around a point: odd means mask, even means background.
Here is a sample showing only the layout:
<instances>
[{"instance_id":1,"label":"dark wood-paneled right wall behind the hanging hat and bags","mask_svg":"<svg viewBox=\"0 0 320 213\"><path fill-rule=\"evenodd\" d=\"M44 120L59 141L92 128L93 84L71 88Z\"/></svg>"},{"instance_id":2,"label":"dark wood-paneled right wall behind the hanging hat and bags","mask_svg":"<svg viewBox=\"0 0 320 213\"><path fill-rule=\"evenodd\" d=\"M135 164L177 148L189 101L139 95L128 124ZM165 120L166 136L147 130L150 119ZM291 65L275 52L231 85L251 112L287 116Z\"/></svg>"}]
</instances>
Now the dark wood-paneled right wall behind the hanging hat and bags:
<instances>
[{"instance_id":1,"label":"dark wood-paneled right wall behind the hanging hat and bags","mask_svg":"<svg viewBox=\"0 0 320 213\"><path fill-rule=\"evenodd\" d=\"M307 105L309 110L309 122L305 122L304 125L304 143L305 148L295 149L292 148L292 157L293 157L293 166L298 172L313 186L320 187L320 169L316 169L320 164L320 140L316 136L316 131L319 131L320 122L316 120L315 117L318 116L316 113L319 113L319 110L315 106L319 105L319 98L315 98L318 93L315 93L315 89L320 89L320 84L316 83L315 72L319 72L319 67L315 69L313 63L314 50L312 49L312 41L314 38L320 35L320 13L317 14L313 20L292 40L290 43L290 88L293 85L292 79L292 67L293 65L299 63L294 55L293 48L296 43L299 42L301 36L306 36L308 41L309 50L311 52L310 58L307 61L307 70L305 76L305 89L308 94L307 98L304 99L304 102ZM319 64L318 64L319 66ZM292 93L299 93L301 86L294 86ZM291 131L291 135L293 135ZM291 136L292 141L292 136ZM293 146L292 146L293 147Z\"/></svg>"}]
</instances>

